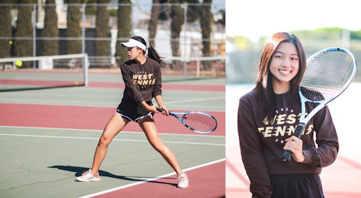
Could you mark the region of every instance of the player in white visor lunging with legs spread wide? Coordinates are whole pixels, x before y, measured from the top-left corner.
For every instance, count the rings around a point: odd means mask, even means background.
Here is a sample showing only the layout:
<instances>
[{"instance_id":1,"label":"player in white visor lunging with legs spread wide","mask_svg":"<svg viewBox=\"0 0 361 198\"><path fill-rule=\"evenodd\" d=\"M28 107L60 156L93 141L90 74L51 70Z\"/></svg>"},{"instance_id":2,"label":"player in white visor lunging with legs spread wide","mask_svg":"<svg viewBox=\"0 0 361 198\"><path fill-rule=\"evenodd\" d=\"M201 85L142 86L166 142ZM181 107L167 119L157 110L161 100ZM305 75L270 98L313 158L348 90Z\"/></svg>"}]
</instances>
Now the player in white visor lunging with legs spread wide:
<instances>
[{"instance_id":1,"label":"player in white visor lunging with legs spread wide","mask_svg":"<svg viewBox=\"0 0 361 198\"><path fill-rule=\"evenodd\" d=\"M178 174L178 187L188 187L187 175L183 173L173 152L162 142L154 124L154 113L159 112L152 104L152 98L155 98L159 107L165 110L161 113L169 115L161 96L161 58L142 37L132 37L121 46L128 48L129 58L121 65L121 74L126 84L123 99L99 139L92 168L76 180L99 181L99 167L105 158L109 143L130 121L136 121L145 132L149 143Z\"/></svg>"}]
</instances>

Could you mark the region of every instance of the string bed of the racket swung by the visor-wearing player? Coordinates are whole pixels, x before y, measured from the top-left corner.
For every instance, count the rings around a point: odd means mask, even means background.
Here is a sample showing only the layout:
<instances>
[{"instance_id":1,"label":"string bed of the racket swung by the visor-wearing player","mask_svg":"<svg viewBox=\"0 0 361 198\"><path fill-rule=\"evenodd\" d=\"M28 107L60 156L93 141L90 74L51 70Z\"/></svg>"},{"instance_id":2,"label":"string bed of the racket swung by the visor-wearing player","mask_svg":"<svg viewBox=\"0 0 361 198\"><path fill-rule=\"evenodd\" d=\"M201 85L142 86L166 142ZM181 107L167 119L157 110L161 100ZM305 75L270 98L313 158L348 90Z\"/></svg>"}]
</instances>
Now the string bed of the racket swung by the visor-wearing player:
<instances>
[{"instance_id":1,"label":"string bed of the racket swung by the visor-wearing player","mask_svg":"<svg viewBox=\"0 0 361 198\"><path fill-rule=\"evenodd\" d=\"M183 116L184 123L197 131L207 132L216 129L216 120L202 113L190 113Z\"/></svg>"}]
</instances>

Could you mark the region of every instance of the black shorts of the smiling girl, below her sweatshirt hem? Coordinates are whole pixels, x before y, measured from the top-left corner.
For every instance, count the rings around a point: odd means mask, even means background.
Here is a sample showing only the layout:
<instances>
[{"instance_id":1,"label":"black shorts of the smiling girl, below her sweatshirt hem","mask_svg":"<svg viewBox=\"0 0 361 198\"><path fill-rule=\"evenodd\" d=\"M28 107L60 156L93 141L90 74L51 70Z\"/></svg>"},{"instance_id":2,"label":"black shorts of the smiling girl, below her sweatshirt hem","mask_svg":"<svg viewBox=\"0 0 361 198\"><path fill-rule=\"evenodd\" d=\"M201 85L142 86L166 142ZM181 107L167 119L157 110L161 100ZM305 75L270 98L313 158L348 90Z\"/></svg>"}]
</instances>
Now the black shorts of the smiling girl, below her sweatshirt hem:
<instances>
[{"instance_id":1,"label":"black shorts of the smiling girl, below her sweatshirt hem","mask_svg":"<svg viewBox=\"0 0 361 198\"><path fill-rule=\"evenodd\" d=\"M318 174L269 176L269 180L273 190L271 197L274 198L324 198Z\"/></svg>"}]
</instances>

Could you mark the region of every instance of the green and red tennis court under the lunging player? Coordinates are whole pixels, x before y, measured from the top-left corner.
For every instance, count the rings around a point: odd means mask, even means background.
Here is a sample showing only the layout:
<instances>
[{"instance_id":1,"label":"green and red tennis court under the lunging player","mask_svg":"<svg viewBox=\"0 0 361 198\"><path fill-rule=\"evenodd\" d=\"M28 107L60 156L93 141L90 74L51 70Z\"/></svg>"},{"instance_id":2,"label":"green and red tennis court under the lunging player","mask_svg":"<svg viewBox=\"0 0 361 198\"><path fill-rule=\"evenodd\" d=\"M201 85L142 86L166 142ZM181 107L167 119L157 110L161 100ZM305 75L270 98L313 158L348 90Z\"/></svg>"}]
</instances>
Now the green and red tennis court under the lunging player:
<instances>
[{"instance_id":1,"label":"green and red tennis court under the lunging player","mask_svg":"<svg viewBox=\"0 0 361 198\"><path fill-rule=\"evenodd\" d=\"M100 183L75 181L92 165L123 95L119 71L92 71L89 80L88 87L0 92L0 197L224 197L224 78L163 77L170 110L208 112L219 124L200 135L173 117L155 115L162 140L188 173L186 189L176 187L176 173L135 123L109 145Z\"/></svg>"}]
</instances>

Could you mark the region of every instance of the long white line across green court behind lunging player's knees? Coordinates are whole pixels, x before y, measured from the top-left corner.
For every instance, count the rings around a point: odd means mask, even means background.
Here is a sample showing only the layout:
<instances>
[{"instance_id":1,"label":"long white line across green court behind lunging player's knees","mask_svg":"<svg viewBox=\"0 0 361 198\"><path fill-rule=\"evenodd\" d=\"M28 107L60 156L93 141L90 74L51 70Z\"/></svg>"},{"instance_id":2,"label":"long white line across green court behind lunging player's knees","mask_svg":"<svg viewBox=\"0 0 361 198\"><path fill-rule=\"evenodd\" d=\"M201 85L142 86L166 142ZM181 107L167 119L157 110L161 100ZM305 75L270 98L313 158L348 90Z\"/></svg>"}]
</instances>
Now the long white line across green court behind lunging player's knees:
<instances>
[{"instance_id":1,"label":"long white line across green court behind lunging player's knees","mask_svg":"<svg viewBox=\"0 0 361 198\"><path fill-rule=\"evenodd\" d=\"M80 140L99 140L99 138L83 138L83 137L67 137L67 136L37 136L37 135L23 135L23 134L8 134L0 133L0 136L20 136L20 137L32 137L32 138L62 138L62 139L80 139ZM130 140L130 139L113 139L114 141L125 141L125 142L142 142L148 143L148 140ZM172 142L163 141L164 143L172 144L185 144L185 145L212 145L212 146L225 146L226 144L214 144L214 143L188 143L188 142Z\"/></svg>"}]
</instances>

